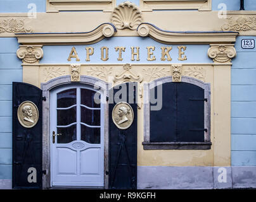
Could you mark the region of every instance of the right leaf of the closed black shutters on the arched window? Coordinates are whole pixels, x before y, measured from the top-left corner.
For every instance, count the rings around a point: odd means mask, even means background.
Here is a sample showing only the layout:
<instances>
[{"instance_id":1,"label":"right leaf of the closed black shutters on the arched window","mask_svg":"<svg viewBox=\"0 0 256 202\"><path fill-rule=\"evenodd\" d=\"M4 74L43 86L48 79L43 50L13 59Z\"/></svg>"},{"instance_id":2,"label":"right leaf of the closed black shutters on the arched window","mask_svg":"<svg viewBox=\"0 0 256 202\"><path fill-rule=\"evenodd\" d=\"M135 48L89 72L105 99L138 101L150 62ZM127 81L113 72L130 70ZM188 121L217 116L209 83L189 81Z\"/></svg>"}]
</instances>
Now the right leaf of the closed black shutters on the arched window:
<instances>
[{"instance_id":1,"label":"right leaf of the closed black shutters on the arched window","mask_svg":"<svg viewBox=\"0 0 256 202\"><path fill-rule=\"evenodd\" d=\"M177 141L204 141L203 88L190 83L177 83Z\"/></svg>"}]
</instances>

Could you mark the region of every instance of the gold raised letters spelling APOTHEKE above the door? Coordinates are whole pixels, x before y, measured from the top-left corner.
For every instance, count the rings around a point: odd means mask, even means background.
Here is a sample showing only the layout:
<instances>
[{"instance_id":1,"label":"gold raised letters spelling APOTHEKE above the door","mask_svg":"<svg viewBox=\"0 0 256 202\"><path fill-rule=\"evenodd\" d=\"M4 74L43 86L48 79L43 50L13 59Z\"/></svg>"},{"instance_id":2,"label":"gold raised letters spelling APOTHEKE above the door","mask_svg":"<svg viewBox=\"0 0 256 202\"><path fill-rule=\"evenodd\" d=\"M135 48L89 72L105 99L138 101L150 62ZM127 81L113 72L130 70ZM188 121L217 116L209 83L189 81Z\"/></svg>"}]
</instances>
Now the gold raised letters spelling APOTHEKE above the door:
<instances>
[{"instance_id":1,"label":"gold raised letters spelling APOTHEKE above the door","mask_svg":"<svg viewBox=\"0 0 256 202\"><path fill-rule=\"evenodd\" d=\"M186 50L186 46L185 45L181 45L177 47L178 49L178 56L177 59L179 61L185 61L187 59L185 50ZM122 53L124 53L126 51L128 51L127 49L125 49L125 47L120 47L117 46L115 47L115 52L117 52L117 61L122 61L123 57L122 57ZM172 61L172 58L174 56L172 56L172 46L162 46L160 48L159 51L161 51L161 60L162 61ZM97 50L94 49L94 47L86 47L86 61L91 61L90 60L90 56L93 56L94 52L96 52ZM131 61L139 61L139 51L140 51L140 47L136 46L133 47L131 46ZM154 52L157 51L155 49L155 46L148 46L146 47L146 52L147 52L147 60L148 61L155 61L156 60L156 56L154 55ZM101 52L101 60L102 61L107 61L109 59L109 48L106 46L103 46L99 49L99 52ZM79 56L77 54L77 50L75 50L75 47L72 47L70 54L68 56L68 61L71 61L71 58L74 57L76 59L76 61L80 61ZM112 56L115 57L115 56Z\"/></svg>"}]
</instances>

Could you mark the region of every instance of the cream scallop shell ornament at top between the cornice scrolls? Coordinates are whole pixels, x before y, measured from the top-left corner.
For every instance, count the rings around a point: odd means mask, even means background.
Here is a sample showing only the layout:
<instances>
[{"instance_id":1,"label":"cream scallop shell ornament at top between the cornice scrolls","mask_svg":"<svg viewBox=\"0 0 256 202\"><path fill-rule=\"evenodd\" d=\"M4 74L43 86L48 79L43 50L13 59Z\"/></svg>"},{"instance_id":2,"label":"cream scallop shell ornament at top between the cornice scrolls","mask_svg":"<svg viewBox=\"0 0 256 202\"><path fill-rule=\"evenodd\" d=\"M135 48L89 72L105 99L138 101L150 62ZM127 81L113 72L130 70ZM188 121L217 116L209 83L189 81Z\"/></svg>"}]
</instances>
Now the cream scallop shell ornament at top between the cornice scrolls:
<instances>
[{"instance_id":1,"label":"cream scallop shell ornament at top between the cornice scrolls","mask_svg":"<svg viewBox=\"0 0 256 202\"><path fill-rule=\"evenodd\" d=\"M111 22L118 30L124 28L136 30L138 25L142 23L141 15L141 11L139 11L135 4L125 1L113 10Z\"/></svg>"}]
</instances>

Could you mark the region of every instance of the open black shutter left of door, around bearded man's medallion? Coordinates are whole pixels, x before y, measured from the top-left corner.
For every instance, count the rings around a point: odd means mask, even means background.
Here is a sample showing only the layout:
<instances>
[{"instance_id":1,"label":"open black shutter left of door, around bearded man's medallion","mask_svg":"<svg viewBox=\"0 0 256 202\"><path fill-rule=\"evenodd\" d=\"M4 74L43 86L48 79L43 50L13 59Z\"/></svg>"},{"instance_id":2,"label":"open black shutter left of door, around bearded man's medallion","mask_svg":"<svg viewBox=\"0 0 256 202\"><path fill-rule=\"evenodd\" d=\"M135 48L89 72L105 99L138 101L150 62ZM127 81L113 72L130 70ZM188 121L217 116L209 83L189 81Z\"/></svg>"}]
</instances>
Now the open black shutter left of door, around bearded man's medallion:
<instances>
[{"instance_id":1,"label":"open black shutter left of door, around bearded man's medallion","mask_svg":"<svg viewBox=\"0 0 256 202\"><path fill-rule=\"evenodd\" d=\"M24 128L17 110L24 101L34 102L39 120ZM29 168L36 169L37 182L29 182ZM13 189L42 189L42 90L28 83L13 82Z\"/></svg>"}]
</instances>

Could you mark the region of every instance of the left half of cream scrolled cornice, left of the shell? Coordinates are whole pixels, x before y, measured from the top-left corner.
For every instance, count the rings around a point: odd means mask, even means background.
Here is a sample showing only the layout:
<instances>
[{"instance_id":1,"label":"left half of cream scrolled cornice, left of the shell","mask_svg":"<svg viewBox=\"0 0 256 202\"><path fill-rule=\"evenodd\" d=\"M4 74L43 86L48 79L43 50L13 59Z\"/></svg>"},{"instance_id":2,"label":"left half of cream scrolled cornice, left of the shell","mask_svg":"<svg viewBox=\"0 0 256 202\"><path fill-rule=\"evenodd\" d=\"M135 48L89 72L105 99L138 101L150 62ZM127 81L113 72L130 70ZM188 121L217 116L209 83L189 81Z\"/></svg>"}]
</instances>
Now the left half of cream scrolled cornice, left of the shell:
<instances>
[{"instance_id":1,"label":"left half of cream scrolled cornice, left of the shell","mask_svg":"<svg viewBox=\"0 0 256 202\"><path fill-rule=\"evenodd\" d=\"M90 32L82 33L17 33L20 44L65 45L94 44L105 37L112 37L117 32L111 23L103 23Z\"/></svg>"}]
</instances>

